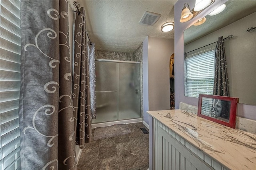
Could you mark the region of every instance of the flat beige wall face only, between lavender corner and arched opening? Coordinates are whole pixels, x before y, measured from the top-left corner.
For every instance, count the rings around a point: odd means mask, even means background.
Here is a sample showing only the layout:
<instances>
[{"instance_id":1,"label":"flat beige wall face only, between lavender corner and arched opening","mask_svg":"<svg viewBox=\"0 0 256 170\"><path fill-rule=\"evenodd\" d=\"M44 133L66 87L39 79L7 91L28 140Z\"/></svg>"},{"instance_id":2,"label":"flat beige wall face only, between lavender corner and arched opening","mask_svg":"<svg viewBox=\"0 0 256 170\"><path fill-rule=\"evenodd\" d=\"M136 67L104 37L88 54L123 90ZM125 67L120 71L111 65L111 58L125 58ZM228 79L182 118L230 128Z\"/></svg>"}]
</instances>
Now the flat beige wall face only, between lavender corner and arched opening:
<instances>
[{"instance_id":1,"label":"flat beige wall face only, between lavender corner and arched opening","mask_svg":"<svg viewBox=\"0 0 256 170\"><path fill-rule=\"evenodd\" d=\"M148 37L148 102L150 111L170 109L169 61L172 53L174 53L174 40Z\"/></svg>"}]
</instances>

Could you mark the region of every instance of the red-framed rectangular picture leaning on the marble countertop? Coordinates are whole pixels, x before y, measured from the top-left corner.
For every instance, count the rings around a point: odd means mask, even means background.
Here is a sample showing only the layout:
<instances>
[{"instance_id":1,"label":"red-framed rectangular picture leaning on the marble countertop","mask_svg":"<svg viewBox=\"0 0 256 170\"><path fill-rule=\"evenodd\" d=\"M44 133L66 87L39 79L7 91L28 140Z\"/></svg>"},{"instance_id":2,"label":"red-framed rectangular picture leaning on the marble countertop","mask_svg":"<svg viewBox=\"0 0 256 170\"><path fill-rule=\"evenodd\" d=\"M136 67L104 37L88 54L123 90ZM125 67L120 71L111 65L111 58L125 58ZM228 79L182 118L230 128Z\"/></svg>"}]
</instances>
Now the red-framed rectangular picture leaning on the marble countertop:
<instances>
[{"instance_id":1,"label":"red-framed rectangular picture leaning on the marble countertop","mask_svg":"<svg viewBox=\"0 0 256 170\"><path fill-rule=\"evenodd\" d=\"M235 97L199 95L197 115L204 119L235 128L237 103L238 98Z\"/></svg>"}]
</instances>

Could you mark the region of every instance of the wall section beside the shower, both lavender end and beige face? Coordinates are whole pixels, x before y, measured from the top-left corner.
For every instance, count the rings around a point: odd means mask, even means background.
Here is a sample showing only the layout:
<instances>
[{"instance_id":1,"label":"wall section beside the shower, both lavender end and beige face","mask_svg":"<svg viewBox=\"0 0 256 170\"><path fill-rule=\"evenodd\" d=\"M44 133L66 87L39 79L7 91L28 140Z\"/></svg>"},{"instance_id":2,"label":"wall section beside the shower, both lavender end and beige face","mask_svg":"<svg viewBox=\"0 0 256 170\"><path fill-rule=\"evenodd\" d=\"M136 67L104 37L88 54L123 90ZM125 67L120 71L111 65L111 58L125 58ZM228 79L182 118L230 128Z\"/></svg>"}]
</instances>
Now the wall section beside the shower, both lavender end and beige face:
<instances>
[{"instance_id":1,"label":"wall section beside the shower, both lavender end and beige face","mask_svg":"<svg viewBox=\"0 0 256 170\"><path fill-rule=\"evenodd\" d=\"M143 121L148 125L147 111L170 109L169 61L172 53L174 40L147 37L143 41Z\"/></svg>"}]
</instances>

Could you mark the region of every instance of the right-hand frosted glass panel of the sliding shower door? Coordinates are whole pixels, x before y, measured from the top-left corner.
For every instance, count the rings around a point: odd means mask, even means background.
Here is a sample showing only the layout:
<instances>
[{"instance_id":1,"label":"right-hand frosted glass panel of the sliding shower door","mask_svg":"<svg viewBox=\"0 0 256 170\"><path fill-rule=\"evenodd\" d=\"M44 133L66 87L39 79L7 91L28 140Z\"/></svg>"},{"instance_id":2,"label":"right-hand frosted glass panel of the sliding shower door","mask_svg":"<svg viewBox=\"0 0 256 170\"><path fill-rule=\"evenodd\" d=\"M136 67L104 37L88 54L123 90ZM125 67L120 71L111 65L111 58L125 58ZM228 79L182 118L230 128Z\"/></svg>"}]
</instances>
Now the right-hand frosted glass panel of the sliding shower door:
<instances>
[{"instance_id":1,"label":"right-hand frosted glass panel of the sliding shower door","mask_svg":"<svg viewBox=\"0 0 256 170\"><path fill-rule=\"evenodd\" d=\"M118 63L119 120L140 118L140 63Z\"/></svg>"}]
</instances>

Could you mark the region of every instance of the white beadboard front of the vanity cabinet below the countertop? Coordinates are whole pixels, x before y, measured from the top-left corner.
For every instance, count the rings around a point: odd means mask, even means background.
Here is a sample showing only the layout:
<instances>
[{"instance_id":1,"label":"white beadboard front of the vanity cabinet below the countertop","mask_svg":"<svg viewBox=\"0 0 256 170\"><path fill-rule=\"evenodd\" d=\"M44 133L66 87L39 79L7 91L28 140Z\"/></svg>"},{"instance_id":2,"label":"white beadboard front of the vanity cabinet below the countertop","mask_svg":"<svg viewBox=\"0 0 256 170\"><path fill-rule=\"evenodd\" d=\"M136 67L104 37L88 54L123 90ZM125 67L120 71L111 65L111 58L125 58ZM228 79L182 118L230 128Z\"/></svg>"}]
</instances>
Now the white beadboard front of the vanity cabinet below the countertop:
<instances>
[{"instance_id":1,"label":"white beadboard front of the vanity cabinet below the countertop","mask_svg":"<svg viewBox=\"0 0 256 170\"><path fill-rule=\"evenodd\" d=\"M154 125L156 125L155 135L157 135L154 146L157 150L155 153L156 170L225 169L156 119ZM206 161L214 167L211 167Z\"/></svg>"}]
</instances>

